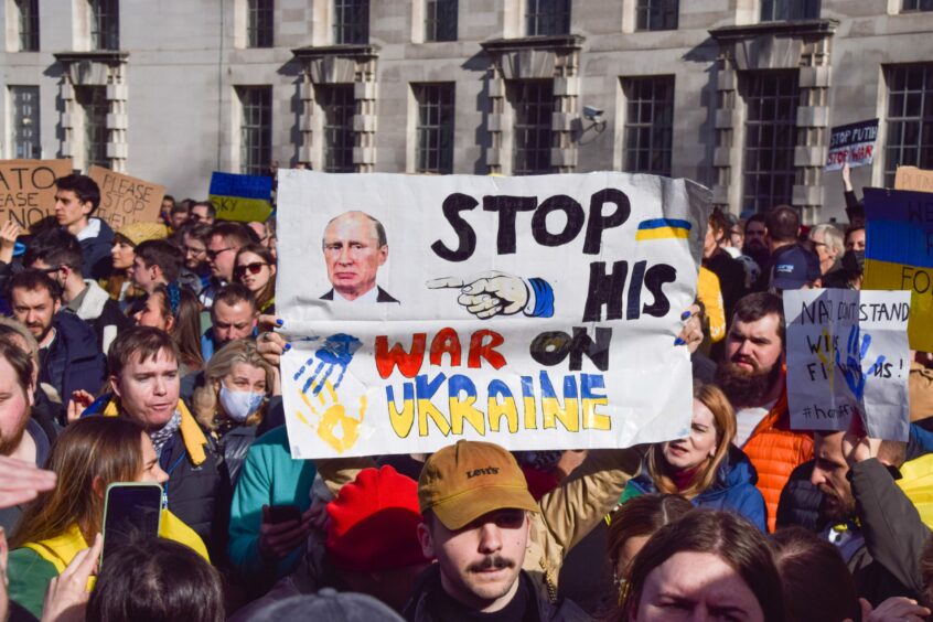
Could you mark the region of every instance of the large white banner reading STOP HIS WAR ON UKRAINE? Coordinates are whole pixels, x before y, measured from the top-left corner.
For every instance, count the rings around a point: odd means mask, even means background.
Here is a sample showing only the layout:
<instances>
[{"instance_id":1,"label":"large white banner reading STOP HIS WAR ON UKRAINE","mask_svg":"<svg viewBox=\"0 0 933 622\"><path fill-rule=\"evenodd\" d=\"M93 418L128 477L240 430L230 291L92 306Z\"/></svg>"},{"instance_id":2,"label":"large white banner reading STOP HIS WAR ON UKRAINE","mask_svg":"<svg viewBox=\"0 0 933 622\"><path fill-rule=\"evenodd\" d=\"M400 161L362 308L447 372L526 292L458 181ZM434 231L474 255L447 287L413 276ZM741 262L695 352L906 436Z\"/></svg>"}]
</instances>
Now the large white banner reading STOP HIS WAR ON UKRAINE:
<instances>
[{"instance_id":1,"label":"large white banner reading STOP HIS WAR ON UKRAINE","mask_svg":"<svg viewBox=\"0 0 933 622\"><path fill-rule=\"evenodd\" d=\"M623 173L279 171L294 458L689 433L708 192Z\"/></svg>"}]
</instances>

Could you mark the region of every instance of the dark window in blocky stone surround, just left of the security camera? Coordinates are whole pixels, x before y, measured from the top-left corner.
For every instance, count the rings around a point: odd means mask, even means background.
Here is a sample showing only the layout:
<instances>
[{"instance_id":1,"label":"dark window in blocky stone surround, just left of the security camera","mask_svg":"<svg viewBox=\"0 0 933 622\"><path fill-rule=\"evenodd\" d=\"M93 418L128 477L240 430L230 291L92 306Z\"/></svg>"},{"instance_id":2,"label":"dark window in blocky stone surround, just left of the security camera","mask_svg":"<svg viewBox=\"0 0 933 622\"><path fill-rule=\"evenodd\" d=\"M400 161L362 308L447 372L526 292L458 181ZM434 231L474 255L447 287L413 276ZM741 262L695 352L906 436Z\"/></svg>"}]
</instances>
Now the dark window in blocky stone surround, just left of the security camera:
<instances>
[{"instance_id":1,"label":"dark window in blocky stone surround, just left of the security camera","mask_svg":"<svg viewBox=\"0 0 933 622\"><path fill-rule=\"evenodd\" d=\"M513 173L532 175L550 172L554 111L554 83L549 79L521 81L512 86L515 109L515 161Z\"/></svg>"}]
</instances>

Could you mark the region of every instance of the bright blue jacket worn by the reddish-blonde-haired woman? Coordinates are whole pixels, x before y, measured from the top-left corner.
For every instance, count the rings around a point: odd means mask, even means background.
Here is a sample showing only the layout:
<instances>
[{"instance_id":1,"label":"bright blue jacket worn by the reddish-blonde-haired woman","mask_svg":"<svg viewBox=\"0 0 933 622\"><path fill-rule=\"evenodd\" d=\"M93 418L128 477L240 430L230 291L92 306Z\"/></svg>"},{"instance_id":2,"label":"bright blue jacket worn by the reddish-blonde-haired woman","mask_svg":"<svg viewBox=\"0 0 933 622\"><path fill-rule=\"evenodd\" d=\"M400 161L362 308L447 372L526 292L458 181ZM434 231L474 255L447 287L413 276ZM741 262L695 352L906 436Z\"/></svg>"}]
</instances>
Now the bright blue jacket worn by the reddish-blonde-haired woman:
<instances>
[{"instance_id":1,"label":"bright blue jacket worn by the reddish-blonde-haired woman","mask_svg":"<svg viewBox=\"0 0 933 622\"><path fill-rule=\"evenodd\" d=\"M764 497L754 486L755 482L758 473L751 461L741 449L730 446L712 484L690 501L697 507L738 512L765 532L768 511L764 507ZM645 460L637 476L629 480L622 500L624 502L640 494L654 493L657 493L657 489L647 472Z\"/></svg>"}]
</instances>

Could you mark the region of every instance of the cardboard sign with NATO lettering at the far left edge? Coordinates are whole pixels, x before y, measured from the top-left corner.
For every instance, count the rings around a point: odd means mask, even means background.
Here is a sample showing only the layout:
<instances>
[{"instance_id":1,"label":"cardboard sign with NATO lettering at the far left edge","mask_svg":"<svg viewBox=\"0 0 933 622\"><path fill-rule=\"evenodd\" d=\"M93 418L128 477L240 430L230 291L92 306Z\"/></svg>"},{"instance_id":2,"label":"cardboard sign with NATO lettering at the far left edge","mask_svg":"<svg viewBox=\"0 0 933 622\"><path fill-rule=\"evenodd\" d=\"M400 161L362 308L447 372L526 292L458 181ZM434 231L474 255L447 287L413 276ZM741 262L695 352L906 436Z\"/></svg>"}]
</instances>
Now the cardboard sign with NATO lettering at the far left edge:
<instances>
[{"instance_id":1,"label":"cardboard sign with NATO lettering at the far left edge","mask_svg":"<svg viewBox=\"0 0 933 622\"><path fill-rule=\"evenodd\" d=\"M71 159L0 160L0 222L28 229L54 214L55 180L71 173Z\"/></svg>"}]
</instances>

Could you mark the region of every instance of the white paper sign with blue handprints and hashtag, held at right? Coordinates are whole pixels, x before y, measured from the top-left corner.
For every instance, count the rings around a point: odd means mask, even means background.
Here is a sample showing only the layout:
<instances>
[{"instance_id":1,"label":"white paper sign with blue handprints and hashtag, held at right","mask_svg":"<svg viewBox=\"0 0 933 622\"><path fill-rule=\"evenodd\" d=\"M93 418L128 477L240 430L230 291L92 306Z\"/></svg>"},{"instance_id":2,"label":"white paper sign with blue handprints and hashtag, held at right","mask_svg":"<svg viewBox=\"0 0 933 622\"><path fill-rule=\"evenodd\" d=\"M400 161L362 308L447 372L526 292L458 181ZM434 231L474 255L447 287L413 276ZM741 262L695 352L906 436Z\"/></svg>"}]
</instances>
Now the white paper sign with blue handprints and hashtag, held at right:
<instances>
[{"instance_id":1,"label":"white paper sign with blue handprints and hashtag, held at right","mask_svg":"<svg viewBox=\"0 0 933 622\"><path fill-rule=\"evenodd\" d=\"M787 290L791 427L846 430L861 415L872 438L908 438L910 293Z\"/></svg>"}]
</instances>

